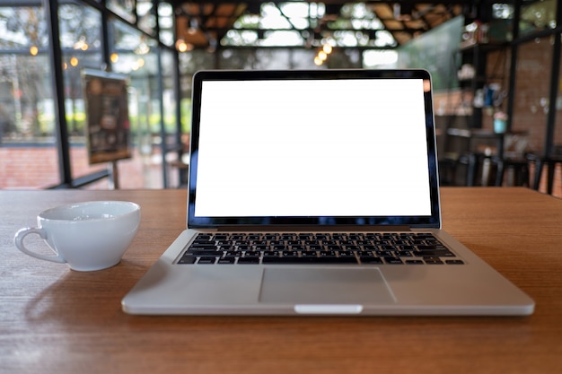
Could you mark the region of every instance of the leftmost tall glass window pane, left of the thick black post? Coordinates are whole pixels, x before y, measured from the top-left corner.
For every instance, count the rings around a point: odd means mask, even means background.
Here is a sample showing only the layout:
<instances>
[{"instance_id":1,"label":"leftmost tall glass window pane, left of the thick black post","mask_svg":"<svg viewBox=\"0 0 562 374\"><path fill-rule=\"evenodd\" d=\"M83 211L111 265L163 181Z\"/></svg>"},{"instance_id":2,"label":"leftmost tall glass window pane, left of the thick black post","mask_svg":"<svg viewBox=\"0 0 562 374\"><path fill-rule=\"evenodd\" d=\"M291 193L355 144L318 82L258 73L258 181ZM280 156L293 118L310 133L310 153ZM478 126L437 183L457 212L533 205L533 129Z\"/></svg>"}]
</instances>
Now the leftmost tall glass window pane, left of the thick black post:
<instances>
[{"instance_id":1,"label":"leftmost tall glass window pane, left of the thick black post","mask_svg":"<svg viewBox=\"0 0 562 374\"><path fill-rule=\"evenodd\" d=\"M48 48L43 7L0 7L0 189L60 182Z\"/></svg>"}]
</instances>

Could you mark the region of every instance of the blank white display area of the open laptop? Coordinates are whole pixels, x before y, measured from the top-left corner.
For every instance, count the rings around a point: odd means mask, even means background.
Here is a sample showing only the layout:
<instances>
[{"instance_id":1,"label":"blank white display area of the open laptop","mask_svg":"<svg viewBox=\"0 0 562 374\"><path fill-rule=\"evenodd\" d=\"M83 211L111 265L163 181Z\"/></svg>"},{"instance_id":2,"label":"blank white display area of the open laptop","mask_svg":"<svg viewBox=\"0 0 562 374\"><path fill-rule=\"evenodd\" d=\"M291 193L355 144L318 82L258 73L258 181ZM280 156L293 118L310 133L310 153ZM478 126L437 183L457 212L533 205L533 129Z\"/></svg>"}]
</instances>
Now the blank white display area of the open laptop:
<instances>
[{"instance_id":1,"label":"blank white display area of the open laptop","mask_svg":"<svg viewBox=\"0 0 562 374\"><path fill-rule=\"evenodd\" d=\"M422 79L202 83L195 216L431 215Z\"/></svg>"}]
</instances>

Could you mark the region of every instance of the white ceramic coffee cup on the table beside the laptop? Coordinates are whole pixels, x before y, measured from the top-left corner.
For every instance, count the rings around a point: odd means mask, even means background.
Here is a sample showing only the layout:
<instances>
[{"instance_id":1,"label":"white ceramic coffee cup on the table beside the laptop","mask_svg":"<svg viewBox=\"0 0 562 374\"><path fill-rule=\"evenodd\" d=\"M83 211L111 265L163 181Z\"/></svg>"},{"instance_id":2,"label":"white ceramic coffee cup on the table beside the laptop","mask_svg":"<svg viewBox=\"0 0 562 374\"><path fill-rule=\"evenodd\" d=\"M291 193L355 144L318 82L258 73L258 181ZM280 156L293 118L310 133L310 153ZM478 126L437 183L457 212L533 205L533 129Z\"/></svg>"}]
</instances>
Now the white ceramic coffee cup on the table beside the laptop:
<instances>
[{"instance_id":1,"label":"white ceramic coffee cup on the table beside the laptop","mask_svg":"<svg viewBox=\"0 0 562 374\"><path fill-rule=\"evenodd\" d=\"M38 227L19 230L13 243L26 255L66 263L77 271L119 264L140 224L140 206L125 201L92 201L48 209L37 216ZM55 256L31 251L23 239L37 234Z\"/></svg>"}]
</instances>

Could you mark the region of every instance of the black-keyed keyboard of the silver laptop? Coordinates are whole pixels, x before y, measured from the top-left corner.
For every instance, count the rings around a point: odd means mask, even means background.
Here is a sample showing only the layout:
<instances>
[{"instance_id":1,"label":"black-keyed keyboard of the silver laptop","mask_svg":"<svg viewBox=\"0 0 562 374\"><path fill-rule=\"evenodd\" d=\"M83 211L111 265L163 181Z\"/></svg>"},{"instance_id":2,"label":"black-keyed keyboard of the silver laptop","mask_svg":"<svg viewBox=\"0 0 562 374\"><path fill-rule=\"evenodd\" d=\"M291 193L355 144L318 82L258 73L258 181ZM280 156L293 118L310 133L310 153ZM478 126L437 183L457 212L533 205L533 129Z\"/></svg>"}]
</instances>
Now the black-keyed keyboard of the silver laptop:
<instances>
[{"instance_id":1,"label":"black-keyed keyboard of the silver laptop","mask_svg":"<svg viewBox=\"0 0 562 374\"><path fill-rule=\"evenodd\" d=\"M462 265L431 233L199 233L178 264Z\"/></svg>"}]
</instances>

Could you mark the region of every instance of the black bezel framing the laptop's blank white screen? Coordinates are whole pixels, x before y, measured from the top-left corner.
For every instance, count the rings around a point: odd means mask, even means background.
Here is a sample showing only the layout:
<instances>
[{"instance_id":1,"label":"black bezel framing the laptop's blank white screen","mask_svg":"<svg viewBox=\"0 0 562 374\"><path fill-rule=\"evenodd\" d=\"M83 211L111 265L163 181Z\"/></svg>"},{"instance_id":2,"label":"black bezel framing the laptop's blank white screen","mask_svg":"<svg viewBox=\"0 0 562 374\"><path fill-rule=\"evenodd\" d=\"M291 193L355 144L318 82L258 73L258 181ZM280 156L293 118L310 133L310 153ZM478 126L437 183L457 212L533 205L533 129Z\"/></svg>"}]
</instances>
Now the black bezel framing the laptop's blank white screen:
<instances>
[{"instance_id":1,"label":"black bezel framing the laptop's blank white screen","mask_svg":"<svg viewBox=\"0 0 562 374\"><path fill-rule=\"evenodd\" d=\"M432 91L424 90L426 109L427 168L431 214L423 216L260 216L260 217L201 217L195 215L197 197L198 140L201 109L201 92L206 81L249 80L312 80L312 79L423 79L431 84L430 74L423 69L396 70L240 70L199 71L193 76L192 117L190 129L189 183L188 183L188 227L275 227L275 226L408 226L410 228L441 228L439 204L439 181L437 172L435 117ZM430 86L430 85L429 85ZM429 87L428 86L428 87Z\"/></svg>"}]
</instances>

